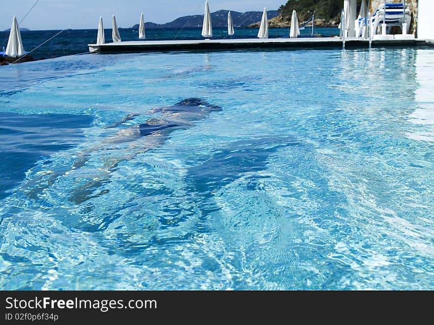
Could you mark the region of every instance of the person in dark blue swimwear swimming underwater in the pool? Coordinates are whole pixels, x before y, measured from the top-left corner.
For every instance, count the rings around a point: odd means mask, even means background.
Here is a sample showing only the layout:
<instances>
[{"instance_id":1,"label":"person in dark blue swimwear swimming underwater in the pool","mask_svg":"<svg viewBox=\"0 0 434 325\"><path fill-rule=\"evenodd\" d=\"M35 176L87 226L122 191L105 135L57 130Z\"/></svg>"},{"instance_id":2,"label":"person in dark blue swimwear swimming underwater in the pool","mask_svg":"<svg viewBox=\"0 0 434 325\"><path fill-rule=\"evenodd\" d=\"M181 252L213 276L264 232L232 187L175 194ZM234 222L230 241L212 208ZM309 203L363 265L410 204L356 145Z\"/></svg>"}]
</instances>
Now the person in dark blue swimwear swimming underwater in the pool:
<instances>
[{"instance_id":1,"label":"person in dark blue swimwear swimming underwater in the pool","mask_svg":"<svg viewBox=\"0 0 434 325\"><path fill-rule=\"evenodd\" d=\"M31 189L29 188L28 195L37 197L40 192L56 181L58 177L70 174L85 166L90 157L94 153L99 152L103 159L106 160L104 165L99 168L100 173L93 177L93 181L89 181L85 185L72 190L70 201L75 203L83 202L86 198L89 198L87 193L101 186L110 178L110 174L117 168L120 162L133 159L138 154L162 145L173 131L193 127L194 121L205 119L211 112L221 110L221 107L211 105L199 98L188 98L175 105L151 109L149 114L160 113L161 118L151 118L146 120L145 123L120 129L116 135L105 138L100 144L80 151L69 171L62 173L48 171L38 179L28 181L27 186L31 187ZM121 121L106 126L105 129L117 128L127 121L134 120L139 115L137 113L128 114ZM119 147L125 146L127 146L126 151L130 152L129 154L121 156L109 154L109 150L117 150ZM104 151L107 154L101 154ZM37 186L35 187L35 185Z\"/></svg>"}]
</instances>

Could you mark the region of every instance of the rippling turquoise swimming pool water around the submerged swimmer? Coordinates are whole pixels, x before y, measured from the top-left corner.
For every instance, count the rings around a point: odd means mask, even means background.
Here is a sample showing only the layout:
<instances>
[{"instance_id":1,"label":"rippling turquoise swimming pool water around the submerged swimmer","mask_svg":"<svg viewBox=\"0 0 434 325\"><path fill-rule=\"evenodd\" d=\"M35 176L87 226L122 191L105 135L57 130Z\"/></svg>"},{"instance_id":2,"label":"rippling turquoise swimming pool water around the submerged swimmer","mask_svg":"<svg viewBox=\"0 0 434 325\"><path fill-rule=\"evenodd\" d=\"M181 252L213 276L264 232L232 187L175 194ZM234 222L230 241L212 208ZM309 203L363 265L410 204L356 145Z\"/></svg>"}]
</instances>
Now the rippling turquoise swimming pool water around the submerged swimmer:
<instances>
[{"instance_id":1,"label":"rippling turquoise swimming pool water around the submerged swimmer","mask_svg":"<svg viewBox=\"0 0 434 325\"><path fill-rule=\"evenodd\" d=\"M0 73L0 289L434 289L434 50Z\"/></svg>"}]
</instances>

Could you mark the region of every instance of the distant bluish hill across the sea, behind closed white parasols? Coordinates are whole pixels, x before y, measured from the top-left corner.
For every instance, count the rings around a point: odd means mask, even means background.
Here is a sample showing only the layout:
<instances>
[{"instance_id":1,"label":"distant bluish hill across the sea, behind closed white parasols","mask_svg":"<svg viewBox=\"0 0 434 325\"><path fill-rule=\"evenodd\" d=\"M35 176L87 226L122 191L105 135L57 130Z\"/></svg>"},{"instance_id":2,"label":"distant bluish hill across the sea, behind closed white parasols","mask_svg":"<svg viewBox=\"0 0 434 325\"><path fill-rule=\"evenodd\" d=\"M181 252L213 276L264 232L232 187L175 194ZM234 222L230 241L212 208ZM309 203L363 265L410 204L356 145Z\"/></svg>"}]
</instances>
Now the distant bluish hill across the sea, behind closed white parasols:
<instances>
[{"instance_id":1,"label":"distant bluish hill across the sea, behind closed white parasols","mask_svg":"<svg viewBox=\"0 0 434 325\"><path fill-rule=\"evenodd\" d=\"M229 10L218 10L211 13L211 20L213 27L227 27L227 13ZM231 11L232 20L235 27L247 27L253 23L256 23L262 18L262 11L247 11L237 12ZM267 11L268 19L274 18L279 15L277 10ZM145 23L145 28L191 28L202 27L204 15L184 16L175 19L174 21L166 24L155 24L151 22ZM139 24L134 25L132 29L139 29Z\"/></svg>"}]
</instances>

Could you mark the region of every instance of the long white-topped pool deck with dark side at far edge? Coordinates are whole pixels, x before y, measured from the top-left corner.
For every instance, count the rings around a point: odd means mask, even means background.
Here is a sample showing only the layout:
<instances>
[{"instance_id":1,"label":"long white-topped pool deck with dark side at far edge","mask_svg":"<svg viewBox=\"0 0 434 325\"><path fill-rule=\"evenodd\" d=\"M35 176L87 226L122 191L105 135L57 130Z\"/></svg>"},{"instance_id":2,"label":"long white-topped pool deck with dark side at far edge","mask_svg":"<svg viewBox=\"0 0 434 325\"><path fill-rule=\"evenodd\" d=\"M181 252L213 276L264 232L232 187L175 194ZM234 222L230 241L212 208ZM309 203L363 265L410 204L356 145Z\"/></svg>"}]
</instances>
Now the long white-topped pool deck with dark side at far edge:
<instances>
[{"instance_id":1,"label":"long white-topped pool deck with dark side at far edge","mask_svg":"<svg viewBox=\"0 0 434 325\"><path fill-rule=\"evenodd\" d=\"M89 44L89 52L125 53L147 51L184 50L233 50L254 48L342 48L339 37L308 38L247 38L247 39L201 39L201 40L144 40L106 44ZM399 36L392 39L373 39L372 47L433 46L433 41ZM346 48L367 48L369 40L347 37Z\"/></svg>"}]
</instances>

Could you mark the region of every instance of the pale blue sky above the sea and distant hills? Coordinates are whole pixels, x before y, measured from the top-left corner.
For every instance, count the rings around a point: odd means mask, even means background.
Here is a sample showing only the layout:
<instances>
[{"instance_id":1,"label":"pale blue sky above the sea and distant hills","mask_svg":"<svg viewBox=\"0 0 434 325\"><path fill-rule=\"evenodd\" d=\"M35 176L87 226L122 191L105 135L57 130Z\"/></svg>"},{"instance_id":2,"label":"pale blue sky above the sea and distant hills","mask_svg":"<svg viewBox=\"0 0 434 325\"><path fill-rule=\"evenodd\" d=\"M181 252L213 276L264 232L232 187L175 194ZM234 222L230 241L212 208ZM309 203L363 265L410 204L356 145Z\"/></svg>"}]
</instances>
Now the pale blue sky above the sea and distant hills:
<instances>
[{"instance_id":1,"label":"pale blue sky above the sea and distant hills","mask_svg":"<svg viewBox=\"0 0 434 325\"><path fill-rule=\"evenodd\" d=\"M18 22L36 0L1 0L0 31L11 27L13 15ZM276 10L286 0L209 0L211 12L226 9L233 11L262 11L264 7ZM106 26L111 26L111 15L116 15L119 27L139 23L140 13L145 21L167 23L178 17L203 14L205 0L39 0L20 25L31 30L97 29L102 16Z\"/></svg>"}]
</instances>

